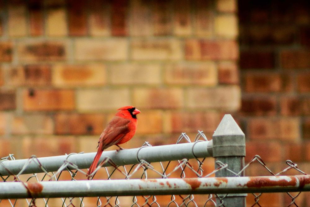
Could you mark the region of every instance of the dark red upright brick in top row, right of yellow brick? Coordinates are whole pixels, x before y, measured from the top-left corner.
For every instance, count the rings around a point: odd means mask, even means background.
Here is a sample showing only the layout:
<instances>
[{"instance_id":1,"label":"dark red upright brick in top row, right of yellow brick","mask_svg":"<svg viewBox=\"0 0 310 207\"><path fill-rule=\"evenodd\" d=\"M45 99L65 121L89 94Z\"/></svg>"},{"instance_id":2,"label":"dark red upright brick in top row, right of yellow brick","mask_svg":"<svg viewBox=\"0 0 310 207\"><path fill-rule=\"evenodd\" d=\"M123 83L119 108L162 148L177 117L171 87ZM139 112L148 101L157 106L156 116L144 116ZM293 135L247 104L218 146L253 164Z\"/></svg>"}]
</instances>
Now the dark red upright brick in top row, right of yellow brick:
<instances>
[{"instance_id":1,"label":"dark red upright brick in top row, right of yellow brick","mask_svg":"<svg viewBox=\"0 0 310 207\"><path fill-rule=\"evenodd\" d=\"M87 14L84 1L68 1L69 35L82 36L87 34Z\"/></svg>"}]
</instances>

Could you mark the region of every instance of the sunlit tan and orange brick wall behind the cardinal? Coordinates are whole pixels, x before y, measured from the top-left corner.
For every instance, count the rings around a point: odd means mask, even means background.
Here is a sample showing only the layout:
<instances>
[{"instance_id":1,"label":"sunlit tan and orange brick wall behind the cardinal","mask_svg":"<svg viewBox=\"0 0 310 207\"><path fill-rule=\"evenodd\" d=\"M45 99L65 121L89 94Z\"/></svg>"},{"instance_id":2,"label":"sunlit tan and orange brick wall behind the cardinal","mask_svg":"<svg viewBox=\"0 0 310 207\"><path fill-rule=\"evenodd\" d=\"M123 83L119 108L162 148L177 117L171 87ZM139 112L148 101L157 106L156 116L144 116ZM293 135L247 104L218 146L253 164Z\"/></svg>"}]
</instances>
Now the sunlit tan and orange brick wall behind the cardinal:
<instances>
[{"instance_id":1,"label":"sunlit tan and orange brick wall behind the cardinal","mask_svg":"<svg viewBox=\"0 0 310 207\"><path fill-rule=\"evenodd\" d=\"M236 1L2 1L0 156L93 152L134 105L135 141L209 138L240 108ZM111 147L111 149L114 149Z\"/></svg>"}]
</instances>

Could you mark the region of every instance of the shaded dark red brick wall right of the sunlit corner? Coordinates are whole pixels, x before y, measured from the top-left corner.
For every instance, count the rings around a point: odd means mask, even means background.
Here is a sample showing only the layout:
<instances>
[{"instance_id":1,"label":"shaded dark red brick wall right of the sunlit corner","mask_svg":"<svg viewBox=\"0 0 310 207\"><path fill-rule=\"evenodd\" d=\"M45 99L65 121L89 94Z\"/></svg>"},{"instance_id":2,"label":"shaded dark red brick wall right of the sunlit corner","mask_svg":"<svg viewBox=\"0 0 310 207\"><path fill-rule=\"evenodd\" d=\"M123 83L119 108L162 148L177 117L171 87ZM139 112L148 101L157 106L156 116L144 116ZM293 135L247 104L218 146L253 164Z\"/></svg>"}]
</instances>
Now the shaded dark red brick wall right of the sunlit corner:
<instances>
[{"instance_id":1,"label":"shaded dark red brick wall right of the sunlit corner","mask_svg":"<svg viewBox=\"0 0 310 207\"><path fill-rule=\"evenodd\" d=\"M238 9L247 161L260 154L274 172L287 159L309 171L310 4L240 0Z\"/></svg>"}]
</instances>

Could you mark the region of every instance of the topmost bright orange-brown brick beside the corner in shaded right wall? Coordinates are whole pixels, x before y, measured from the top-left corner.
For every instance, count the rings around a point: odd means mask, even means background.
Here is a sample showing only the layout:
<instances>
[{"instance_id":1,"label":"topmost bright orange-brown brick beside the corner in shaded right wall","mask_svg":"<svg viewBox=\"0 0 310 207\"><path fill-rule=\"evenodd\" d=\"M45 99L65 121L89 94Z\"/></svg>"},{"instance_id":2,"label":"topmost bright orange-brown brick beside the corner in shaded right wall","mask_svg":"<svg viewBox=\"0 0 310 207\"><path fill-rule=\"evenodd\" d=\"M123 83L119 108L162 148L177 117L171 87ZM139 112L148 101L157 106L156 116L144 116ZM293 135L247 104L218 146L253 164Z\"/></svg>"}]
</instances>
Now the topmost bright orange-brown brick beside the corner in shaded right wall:
<instances>
[{"instance_id":1,"label":"topmost bright orange-brown brick beside the corner in shaded right wall","mask_svg":"<svg viewBox=\"0 0 310 207\"><path fill-rule=\"evenodd\" d=\"M247 73L244 82L246 92L279 92L283 84L278 73Z\"/></svg>"}]
</instances>

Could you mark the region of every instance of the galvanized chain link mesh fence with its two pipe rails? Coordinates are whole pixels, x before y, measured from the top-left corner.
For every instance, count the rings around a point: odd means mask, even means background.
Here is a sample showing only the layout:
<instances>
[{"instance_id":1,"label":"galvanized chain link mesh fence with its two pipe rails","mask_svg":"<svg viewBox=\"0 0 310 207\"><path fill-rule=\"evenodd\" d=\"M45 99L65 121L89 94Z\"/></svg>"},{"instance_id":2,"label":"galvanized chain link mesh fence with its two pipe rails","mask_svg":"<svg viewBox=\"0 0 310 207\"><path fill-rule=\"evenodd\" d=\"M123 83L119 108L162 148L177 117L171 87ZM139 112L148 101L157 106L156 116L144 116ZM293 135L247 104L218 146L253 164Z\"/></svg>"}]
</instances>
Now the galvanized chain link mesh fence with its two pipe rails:
<instances>
[{"instance_id":1,"label":"galvanized chain link mesh fence with its two pipe rails","mask_svg":"<svg viewBox=\"0 0 310 207\"><path fill-rule=\"evenodd\" d=\"M307 175L296 163L287 160L283 170L273 172L256 155L236 172L235 166L214 161L212 141L214 137L208 141L198 131L193 140L182 133L176 145L153 147L145 142L137 149L105 151L92 181L86 180L85 166L90 166L95 153L33 155L23 160L9 154L0 162L0 206L231 206L223 202L231 195L246 197L247 206L270 206L264 205L264 195L269 193L262 192L284 192L277 206L305 206L299 191L308 191L304 187L308 180L301 183L300 177L294 178L296 186L289 180L292 176L286 176L287 183L282 177L282 186L275 183L282 175ZM258 169L260 175L272 177L259 178L253 186L242 185L250 179L242 176ZM218 177L221 172L231 173L231 178Z\"/></svg>"}]
</instances>

